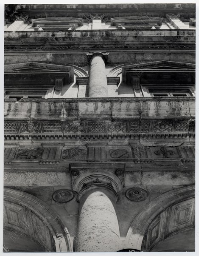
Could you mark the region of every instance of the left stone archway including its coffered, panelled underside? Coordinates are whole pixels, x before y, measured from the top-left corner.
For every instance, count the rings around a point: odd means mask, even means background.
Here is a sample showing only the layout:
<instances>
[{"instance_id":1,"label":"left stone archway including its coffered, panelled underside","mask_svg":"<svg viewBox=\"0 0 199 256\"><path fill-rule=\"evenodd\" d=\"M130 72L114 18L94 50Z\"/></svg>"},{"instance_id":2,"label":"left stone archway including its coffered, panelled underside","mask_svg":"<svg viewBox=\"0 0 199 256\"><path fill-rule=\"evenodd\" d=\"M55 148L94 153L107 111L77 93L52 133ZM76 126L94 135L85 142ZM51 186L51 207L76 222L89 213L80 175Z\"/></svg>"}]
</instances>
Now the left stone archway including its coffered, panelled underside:
<instances>
[{"instance_id":1,"label":"left stone archway including its coffered, panelled underside","mask_svg":"<svg viewBox=\"0 0 199 256\"><path fill-rule=\"evenodd\" d=\"M67 228L40 199L24 191L4 188L4 207L4 229L13 242L26 237L40 251L73 251Z\"/></svg>"}]
</instances>

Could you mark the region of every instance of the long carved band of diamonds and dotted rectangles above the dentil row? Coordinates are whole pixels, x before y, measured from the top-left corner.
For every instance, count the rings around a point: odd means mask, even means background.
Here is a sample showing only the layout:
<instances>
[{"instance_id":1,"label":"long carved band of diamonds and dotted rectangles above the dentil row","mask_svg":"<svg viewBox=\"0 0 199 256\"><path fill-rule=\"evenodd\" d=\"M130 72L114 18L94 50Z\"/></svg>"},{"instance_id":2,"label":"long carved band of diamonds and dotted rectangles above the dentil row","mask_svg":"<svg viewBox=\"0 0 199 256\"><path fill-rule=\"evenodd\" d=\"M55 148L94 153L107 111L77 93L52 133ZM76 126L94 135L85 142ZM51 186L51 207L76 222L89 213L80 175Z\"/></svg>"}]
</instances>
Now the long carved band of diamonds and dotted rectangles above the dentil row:
<instances>
[{"instance_id":1,"label":"long carved band of diamonds and dotted rectangles above the dentil row","mask_svg":"<svg viewBox=\"0 0 199 256\"><path fill-rule=\"evenodd\" d=\"M181 134L195 131L192 119L164 120L101 120L99 121L5 121L5 134ZM9 136L8 136L9 137Z\"/></svg>"}]
</instances>

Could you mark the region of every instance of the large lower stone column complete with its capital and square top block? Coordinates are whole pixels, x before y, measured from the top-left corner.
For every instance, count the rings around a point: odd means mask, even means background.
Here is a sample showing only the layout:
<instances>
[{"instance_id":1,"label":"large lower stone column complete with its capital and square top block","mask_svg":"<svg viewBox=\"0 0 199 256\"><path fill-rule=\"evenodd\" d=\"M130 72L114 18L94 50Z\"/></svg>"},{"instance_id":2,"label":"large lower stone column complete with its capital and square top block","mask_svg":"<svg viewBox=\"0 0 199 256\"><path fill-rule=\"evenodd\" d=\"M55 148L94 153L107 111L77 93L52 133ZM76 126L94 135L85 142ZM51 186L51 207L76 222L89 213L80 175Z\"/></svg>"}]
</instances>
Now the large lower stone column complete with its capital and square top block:
<instances>
[{"instance_id":1,"label":"large lower stone column complete with its capital and square top block","mask_svg":"<svg viewBox=\"0 0 199 256\"><path fill-rule=\"evenodd\" d=\"M123 249L116 211L123 190L124 163L70 164L73 191L80 203L76 252L117 252Z\"/></svg>"}]
</instances>

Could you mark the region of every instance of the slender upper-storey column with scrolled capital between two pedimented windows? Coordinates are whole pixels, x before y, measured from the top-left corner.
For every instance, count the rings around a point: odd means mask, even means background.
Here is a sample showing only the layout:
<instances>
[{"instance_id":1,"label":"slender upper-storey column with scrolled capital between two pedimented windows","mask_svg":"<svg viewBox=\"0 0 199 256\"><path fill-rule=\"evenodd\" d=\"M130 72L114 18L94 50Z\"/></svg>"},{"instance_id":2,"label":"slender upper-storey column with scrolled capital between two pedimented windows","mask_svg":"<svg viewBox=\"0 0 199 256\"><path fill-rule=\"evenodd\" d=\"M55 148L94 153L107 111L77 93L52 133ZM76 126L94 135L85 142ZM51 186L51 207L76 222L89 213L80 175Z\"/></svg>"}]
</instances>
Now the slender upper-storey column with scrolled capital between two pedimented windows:
<instances>
[{"instance_id":1,"label":"slender upper-storey column with scrolled capital between two pedimented windows","mask_svg":"<svg viewBox=\"0 0 199 256\"><path fill-rule=\"evenodd\" d=\"M104 56L108 53L96 51L88 53L91 56L88 97L108 97L107 74Z\"/></svg>"}]
</instances>

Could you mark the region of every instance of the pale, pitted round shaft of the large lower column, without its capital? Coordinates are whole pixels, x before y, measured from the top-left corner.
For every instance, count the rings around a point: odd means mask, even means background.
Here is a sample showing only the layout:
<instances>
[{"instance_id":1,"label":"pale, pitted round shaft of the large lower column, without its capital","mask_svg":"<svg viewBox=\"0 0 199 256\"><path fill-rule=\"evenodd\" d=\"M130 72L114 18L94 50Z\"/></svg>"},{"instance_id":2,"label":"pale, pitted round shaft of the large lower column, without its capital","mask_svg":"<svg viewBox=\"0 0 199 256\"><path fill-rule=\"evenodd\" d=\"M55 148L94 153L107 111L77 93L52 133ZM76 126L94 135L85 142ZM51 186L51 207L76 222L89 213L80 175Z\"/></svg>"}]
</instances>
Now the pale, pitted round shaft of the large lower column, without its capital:
<instances>
[{"instance_id":1,"label":"pale, pitted round shaft of the large lower column, without its capital","mask_svg":"<svg viewBox=\"0 0 199 256\"><path fill-rule=\"evenodd\" d=\"M116 252L121 249L116 197L103 188L80 199L76 252Z\"/></svg>"}]
</instances>

